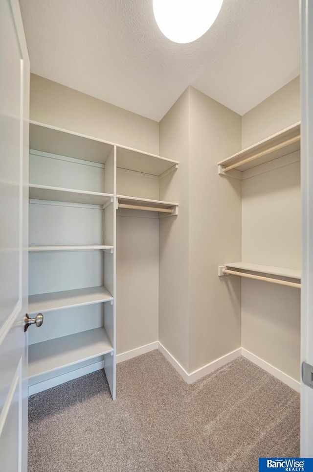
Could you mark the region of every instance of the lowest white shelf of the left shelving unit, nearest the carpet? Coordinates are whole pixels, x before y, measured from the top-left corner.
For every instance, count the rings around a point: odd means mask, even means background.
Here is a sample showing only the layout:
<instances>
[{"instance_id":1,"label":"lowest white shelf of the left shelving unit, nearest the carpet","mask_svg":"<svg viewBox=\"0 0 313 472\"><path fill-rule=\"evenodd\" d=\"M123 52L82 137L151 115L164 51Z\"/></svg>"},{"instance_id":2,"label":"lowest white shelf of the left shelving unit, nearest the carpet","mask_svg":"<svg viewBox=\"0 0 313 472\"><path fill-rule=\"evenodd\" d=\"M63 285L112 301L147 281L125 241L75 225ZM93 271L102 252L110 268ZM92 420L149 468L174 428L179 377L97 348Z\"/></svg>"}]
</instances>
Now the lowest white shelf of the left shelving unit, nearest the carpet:
<instances>
[{"instance_id":1,"label":"lowest white shelf of the left shelving unit, nearest the carpet","mask_svg":"<svg viewBox=\"0 0 313 472\"><path fill-rule=\"evenodd\" d=\"M31 344L28 350L28 377L36 377L110 353L113 348L105 329L96 328Z\"/></svg>"}]
</instances>

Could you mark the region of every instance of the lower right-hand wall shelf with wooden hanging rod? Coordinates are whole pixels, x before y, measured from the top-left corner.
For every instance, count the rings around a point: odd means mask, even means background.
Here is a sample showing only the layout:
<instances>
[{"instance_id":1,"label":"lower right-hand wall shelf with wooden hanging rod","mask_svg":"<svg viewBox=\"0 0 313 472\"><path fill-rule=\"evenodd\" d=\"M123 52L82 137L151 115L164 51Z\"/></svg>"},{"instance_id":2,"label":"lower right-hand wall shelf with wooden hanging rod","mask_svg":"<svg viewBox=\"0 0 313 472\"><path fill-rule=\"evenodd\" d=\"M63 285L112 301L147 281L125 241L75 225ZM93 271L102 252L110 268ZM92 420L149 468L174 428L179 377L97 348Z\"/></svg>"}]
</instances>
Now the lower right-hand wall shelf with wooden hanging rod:
<instances>
[{"instance_id":1,"label":"lower right-hand wall shelf with wooden hanging rod","mask_svg":"<svg viewBox=\"0 0 313 472\"><path fill-rule=\"evenodd\" d=\"M243 272L239 272L233 269L238 269ZM267 274L274 275L275 278L267 277ZM301 288L300 282L293 282L293 280L301 281L301 270L289 269L285 267L274 267L270 265L252 264L249 262L231 262L225 265L219 266L218 270L219 277L225 275L234 275L237 277L243 277L247 279L255 279L264 282L276 283L279 285L286 285L295 288ZM280 279L282 277L283 279ZM286 280L287 279L287 280ZM288 280L293 279L293 280Z\"/></svg>"}]
</instances>

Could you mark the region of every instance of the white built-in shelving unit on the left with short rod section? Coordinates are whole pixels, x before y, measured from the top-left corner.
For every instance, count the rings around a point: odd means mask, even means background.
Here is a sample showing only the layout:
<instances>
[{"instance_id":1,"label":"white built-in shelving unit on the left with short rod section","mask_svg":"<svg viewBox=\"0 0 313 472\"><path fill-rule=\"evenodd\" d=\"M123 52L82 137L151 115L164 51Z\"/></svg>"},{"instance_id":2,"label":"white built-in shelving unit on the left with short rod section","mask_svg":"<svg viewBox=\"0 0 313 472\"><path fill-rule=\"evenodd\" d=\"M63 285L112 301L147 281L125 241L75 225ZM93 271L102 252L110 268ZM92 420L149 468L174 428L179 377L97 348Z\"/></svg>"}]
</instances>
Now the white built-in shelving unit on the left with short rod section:
<instances>
[{"instance_id":1,"label":"white built-in shelving unit on the left with short rod section","mask_svg":"<svg viewBox=\"0 0 313 472\"><path fill-rule=\"evenodd\" d=\"M28 313L44 313L40 330L29 330L30 394L102 366L115 399L117 209L125 206L118 214L127 216L177 215L178 203L159 190L160 179L177 167L30 123Z\"/></svg>"}]
</instances>

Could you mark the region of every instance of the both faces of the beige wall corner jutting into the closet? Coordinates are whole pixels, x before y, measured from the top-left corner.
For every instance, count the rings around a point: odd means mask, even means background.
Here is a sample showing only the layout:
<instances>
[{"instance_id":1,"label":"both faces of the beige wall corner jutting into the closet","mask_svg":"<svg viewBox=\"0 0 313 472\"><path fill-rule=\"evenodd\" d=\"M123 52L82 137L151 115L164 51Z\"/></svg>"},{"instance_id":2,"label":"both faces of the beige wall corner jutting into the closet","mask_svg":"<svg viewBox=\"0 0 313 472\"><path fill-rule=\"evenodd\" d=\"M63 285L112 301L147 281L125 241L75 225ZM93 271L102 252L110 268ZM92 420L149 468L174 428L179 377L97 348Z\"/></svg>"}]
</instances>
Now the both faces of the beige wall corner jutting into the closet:
<instances>
[{"instance_id":1,"label":"both faces of the beige wall corner jutting into the closet","mask_svg":"<svg viewBox=\"0 0 313 472\"><path fill-rule=\"evenodd\" d=\"M160 221L159 340L191 373L241 346L240 281L218 277L241 259L241 187L216 165L240 149L241 117L189 87L159 129L160 154L179 160L160 187L179 216Z\"/></svg>"}]
</instances>

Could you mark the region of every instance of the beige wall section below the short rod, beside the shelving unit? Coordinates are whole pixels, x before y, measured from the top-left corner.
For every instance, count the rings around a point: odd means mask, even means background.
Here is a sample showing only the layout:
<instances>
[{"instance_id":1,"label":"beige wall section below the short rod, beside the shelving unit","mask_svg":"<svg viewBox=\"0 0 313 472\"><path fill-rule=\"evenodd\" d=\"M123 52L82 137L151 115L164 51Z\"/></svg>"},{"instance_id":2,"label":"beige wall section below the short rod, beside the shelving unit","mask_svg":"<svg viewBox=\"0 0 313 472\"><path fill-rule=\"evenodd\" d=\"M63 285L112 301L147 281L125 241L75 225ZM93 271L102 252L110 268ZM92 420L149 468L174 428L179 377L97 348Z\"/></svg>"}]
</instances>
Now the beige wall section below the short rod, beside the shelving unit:
<instances>
[{"instance_id":1,"label":"beige wall section below the short rod, beside the shelving unit","mask_svg":"<svg viewBox=\"0 0 313 472\"><path fill-rule=\"evenodd\" d=\"M117 354L158 340L158 219L117 216Z\"/></svg>"}]
</instances>

